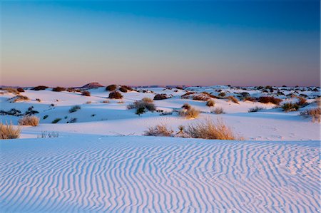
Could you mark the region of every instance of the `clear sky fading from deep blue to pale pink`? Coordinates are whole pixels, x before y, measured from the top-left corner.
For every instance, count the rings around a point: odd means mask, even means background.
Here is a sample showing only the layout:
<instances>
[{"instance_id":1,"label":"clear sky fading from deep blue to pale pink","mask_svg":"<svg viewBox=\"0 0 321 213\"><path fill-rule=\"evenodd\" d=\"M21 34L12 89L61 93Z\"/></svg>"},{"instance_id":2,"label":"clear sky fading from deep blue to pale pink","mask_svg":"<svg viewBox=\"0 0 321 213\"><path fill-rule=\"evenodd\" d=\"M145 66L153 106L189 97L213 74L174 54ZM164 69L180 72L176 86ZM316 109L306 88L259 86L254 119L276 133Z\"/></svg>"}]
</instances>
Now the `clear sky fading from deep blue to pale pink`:
<instances>
[{"instance_id":1,"label":"clear sky fading from deep blue to pale pink","mask_svg":"<svg viewBox=\"0 0 321 213\"><path fill-rule=\"evenodd\" d=\"M1 1L1 85L320 85L320 1Z\"/></svg>"}]
</instances>

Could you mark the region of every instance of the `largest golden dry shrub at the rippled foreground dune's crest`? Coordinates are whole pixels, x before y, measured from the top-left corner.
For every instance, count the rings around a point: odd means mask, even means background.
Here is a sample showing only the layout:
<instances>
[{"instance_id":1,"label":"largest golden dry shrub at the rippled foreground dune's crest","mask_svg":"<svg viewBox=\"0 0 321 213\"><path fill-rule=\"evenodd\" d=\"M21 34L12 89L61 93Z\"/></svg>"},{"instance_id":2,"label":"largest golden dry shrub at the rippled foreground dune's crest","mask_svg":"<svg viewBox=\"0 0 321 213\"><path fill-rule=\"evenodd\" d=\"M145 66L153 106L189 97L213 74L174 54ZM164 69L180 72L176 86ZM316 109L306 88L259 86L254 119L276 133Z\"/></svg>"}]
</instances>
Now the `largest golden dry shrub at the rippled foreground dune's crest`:
<instances>
[{"instance_id":1,"label":"largest golden dry shrub at the rippled foreground dune's crest","mask_svg":"<svg viewBox=\"0 0 321 213\"><path fill-rule=\"evenodd\" d=\"M213 120L206 119L205 121L188 125L186 133L193 138L204 138L214 140L242 140L233 133L223 120L218 119L216 123Z\"/></svg>"}]
</instances>

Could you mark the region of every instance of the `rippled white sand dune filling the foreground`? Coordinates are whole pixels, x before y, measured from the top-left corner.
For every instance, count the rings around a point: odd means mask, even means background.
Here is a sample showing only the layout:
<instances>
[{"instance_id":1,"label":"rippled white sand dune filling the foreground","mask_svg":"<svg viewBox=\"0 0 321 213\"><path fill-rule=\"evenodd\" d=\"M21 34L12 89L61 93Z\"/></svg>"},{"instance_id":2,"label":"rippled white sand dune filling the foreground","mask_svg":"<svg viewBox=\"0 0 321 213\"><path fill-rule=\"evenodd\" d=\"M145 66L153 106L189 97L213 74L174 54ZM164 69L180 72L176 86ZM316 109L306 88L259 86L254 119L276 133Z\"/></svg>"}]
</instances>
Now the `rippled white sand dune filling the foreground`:
<instances>
[{"instance_id":1,"label":"rippled white sand dune filling the foreground","mask_svg":"<svg viewBox=\"0 0 321 213\"><path fill-rule=\"evenodd\" d=\"M318 212L320 141L0 143L0 212Z\"/></svg>"}]
</instances>

